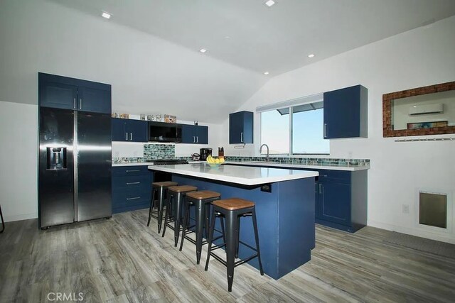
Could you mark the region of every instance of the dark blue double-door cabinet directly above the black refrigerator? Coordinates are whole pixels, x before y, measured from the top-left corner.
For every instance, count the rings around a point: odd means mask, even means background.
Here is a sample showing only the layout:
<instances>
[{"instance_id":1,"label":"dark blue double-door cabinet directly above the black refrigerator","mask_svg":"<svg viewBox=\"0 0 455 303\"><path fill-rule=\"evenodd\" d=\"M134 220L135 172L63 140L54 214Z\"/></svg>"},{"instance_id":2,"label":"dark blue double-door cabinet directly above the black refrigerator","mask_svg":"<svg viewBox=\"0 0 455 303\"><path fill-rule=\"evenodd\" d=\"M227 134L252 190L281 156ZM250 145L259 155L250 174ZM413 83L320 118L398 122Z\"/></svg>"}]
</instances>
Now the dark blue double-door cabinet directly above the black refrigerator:
<instances>
[{"instance_id":1,"label":"dark blue double-door cabinet directly above the black refrigerator","mask_svg":"<svg viewBox=\"0 0 455 303\"><path fill-rule=\"evenodd\" d=\"M38 73L39 106L111 113L111 86Z\"/></svg>"}]
</instances>

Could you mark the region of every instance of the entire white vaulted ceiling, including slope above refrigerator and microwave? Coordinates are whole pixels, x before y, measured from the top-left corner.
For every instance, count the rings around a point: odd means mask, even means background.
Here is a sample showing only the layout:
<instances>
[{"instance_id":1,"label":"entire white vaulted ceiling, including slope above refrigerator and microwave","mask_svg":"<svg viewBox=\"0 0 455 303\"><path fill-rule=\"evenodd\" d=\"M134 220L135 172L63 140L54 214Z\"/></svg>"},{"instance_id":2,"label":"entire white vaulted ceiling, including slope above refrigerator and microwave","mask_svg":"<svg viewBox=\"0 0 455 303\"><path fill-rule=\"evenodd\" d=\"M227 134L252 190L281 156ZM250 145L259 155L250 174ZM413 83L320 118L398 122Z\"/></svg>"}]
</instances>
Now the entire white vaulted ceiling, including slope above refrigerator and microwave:
<instances>
[{"instance_id":1,"label":"entire white vaulted ceiling, including slope above refrigerator and microwave","mask_svg":"<svg viewBox=\"0 0 455 303\"><path fill-rule=\"evenodd\" d=\"M264 2L0 1L0 101L36 104L48 72L112 84L116 112L221 123L275 75L455 14L454 0Z\"/></svg>"}]
</instances>

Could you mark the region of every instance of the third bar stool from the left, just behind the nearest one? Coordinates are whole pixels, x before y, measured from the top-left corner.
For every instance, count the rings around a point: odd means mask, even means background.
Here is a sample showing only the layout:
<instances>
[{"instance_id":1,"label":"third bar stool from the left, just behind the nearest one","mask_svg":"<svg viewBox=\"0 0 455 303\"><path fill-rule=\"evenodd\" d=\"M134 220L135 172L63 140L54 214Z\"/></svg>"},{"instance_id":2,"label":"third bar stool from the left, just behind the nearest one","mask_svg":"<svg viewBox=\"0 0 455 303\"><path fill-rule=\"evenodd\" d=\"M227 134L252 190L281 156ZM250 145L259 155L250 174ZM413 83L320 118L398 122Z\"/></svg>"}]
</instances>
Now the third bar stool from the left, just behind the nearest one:
<instances>
[{"instance_id":1,"label":"third bar stool from the left, just behind the nearest one","mask_svg":"<svg viewBox=\"0 0 455 303\"><path fill-rule=\"evenodd\" d=\"M183 241L185 238L188 239L188 241L193 242L196 244L196 264L200 263L200 251L202 250L203 244L208 243L205 241L203 243L203 225L205 224L205 236L207 236L208 233L208 215L209 212L206 211L206 207L210 206L210 204L213 201L219 200L221 197L221 194L219 192L212 192L210 190L202 190L200 192L188 192L186 194L186 198L183 199L183 221L182 221L182 239L180 242L180 250L183 248ZM190 206L194 205L196 206L196 241L194 241L192 238L188 237L188 233L192 233L192 230L187 231L187 224L188 224L188 218L189 218L189 212L190 212ZM223 224L222 224L223 226ZM188 228L191 228L193 226L189 226ZM224 232L223 232L224 235Z\"/></svg>"}]
</instances>

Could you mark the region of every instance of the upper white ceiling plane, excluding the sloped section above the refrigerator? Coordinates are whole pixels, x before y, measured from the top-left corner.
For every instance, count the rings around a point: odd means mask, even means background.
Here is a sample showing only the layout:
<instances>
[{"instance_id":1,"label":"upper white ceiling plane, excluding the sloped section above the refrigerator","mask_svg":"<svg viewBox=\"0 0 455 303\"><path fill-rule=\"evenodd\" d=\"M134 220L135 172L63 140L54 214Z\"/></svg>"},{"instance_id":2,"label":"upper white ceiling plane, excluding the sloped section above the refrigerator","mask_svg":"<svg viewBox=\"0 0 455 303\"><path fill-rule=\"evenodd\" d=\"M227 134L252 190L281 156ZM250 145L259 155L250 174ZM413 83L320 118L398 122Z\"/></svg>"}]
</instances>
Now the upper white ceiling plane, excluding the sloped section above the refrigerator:
<instances>
[{"instance_id":1,"label":"upper white ceiling plane, excluding the sloped section above the refrigerator","mask_svg":"<svg viewBox=\"0 0 455 303\"><path fill-rule=\"evenodd\" d=\"M52 1L269 77L455 14L454 0Z\"/></svg>"}]
</instances>

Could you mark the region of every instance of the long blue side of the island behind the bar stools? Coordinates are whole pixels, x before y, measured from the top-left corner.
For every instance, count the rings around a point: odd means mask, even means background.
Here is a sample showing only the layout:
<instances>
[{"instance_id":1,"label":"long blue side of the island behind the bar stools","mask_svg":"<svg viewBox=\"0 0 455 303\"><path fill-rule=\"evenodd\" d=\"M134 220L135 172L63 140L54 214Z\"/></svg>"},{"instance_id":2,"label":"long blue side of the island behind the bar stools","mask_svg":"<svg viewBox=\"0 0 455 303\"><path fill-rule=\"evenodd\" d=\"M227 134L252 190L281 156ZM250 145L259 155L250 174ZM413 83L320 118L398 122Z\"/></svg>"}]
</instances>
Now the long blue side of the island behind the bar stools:
<instances>
[{"instance_id":1,"label":"long blue side of the island behind the bar stools","mask_svg":"<svg viewBox=\"0 0 455 303\"><path fill-rule=\"evenodd\" d=\"M261 250L262 268L274 279L279 278L278 268L278 193L277 183L272 184L272 192L261 192L260 188L245 189L231 183L210 182L201 179L173 175L172 180L178 184L188 184L198 187L198 190L213 190L221 194L221 199L239 197L256 204L257 227L259 230L259 248ZM218 221L218 220L217 220ZM255 235L250 216L240 219L240 241L255 247ZM247 258L252 250L240 246L239 258ZM205 258L205 256L204 256ZM259 269L257 258L248 264Z\"/></svg>"}]
</instances>

